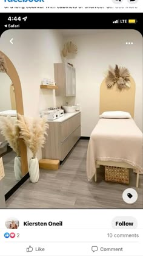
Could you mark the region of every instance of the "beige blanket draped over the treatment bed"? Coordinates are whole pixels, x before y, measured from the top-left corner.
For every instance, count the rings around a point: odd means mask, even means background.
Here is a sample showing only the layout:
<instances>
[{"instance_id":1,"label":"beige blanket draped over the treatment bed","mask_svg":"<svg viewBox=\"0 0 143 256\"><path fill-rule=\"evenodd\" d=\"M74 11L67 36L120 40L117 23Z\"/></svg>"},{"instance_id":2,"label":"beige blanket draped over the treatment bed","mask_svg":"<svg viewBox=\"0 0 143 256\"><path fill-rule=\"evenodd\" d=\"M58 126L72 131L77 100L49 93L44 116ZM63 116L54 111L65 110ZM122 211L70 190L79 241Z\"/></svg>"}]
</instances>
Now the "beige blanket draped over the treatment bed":
<instances>
[{"instance_id":1,"label":"beige blanket draped over the treatment bed","mask_svg":"<svg viewBox=\"0 0 143 256\"><path fill-rule=\"evenodd\" d=\"M128 163L143 173L142 132L133 119L99 119L88 143L88 180L96 173L97 160Z\"/></svg>"}]
</instances>

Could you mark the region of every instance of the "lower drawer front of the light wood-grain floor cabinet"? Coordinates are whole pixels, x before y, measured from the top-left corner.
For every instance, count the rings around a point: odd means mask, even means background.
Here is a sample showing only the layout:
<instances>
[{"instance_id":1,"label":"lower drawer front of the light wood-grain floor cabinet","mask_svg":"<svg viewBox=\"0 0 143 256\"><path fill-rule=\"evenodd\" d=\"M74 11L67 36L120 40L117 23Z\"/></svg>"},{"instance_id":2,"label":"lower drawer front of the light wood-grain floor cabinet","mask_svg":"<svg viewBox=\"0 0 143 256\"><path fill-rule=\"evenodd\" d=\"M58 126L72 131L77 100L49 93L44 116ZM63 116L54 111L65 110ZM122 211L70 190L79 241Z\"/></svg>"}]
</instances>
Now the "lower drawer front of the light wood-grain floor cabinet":
<instances>
[{"instance_id":1,"label":"lower drawer front of the light wood-grain floor cabinet","mask_svg":"<svg viewBox=\"0 0 143 256\"><path fill-rule=\"evenodd\" d=\"M68 152L73 148L75 143L81 137L81 126L78 127L71 135L61 144L61 160L64 160Z\"/></svg>"}]
</instances>

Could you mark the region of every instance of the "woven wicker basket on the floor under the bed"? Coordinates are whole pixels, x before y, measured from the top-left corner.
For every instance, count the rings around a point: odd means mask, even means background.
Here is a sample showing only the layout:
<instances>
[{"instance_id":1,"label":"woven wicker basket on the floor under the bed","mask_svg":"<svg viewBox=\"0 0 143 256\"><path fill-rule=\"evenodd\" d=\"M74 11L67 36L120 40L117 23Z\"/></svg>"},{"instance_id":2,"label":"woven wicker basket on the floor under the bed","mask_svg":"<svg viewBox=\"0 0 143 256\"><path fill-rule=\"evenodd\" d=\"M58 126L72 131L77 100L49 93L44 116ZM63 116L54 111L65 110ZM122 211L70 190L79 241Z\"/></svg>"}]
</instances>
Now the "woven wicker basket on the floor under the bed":
<instances>
[{"instance_id":1,"label":"woven wicker basket on the floor under the bed","mask_svg":"<svg viewBox=\"0 0 143 256\"><path fill-rule=\"evenodd\" d=\"M105 166L105 180L117 183L129 183L129 169L115 166Z\"/></svg>"}]
</instances>

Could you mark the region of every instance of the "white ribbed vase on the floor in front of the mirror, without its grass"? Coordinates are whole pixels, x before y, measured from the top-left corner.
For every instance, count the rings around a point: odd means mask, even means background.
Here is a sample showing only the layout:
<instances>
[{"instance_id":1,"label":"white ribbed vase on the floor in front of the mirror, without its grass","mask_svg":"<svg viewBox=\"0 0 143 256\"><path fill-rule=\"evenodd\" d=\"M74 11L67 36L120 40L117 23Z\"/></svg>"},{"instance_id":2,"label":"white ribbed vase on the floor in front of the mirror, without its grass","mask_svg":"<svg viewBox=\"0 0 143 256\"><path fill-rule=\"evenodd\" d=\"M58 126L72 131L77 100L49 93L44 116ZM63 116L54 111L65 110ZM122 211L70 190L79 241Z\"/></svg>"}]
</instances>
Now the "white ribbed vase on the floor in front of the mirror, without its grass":
<instances>
[{"instance_id":1,"label":"white ribbed vase on the floor in front of the mirror, without its grass","mask_svg":"<svg viewBox=\"0 0 143 256\"><path fill-rule=\"evenodd\" d=\"M29 176L32 183L36 183L39 180L39 162L38 158L31 158L29 163Z\"/></svg>"}]
</instances>

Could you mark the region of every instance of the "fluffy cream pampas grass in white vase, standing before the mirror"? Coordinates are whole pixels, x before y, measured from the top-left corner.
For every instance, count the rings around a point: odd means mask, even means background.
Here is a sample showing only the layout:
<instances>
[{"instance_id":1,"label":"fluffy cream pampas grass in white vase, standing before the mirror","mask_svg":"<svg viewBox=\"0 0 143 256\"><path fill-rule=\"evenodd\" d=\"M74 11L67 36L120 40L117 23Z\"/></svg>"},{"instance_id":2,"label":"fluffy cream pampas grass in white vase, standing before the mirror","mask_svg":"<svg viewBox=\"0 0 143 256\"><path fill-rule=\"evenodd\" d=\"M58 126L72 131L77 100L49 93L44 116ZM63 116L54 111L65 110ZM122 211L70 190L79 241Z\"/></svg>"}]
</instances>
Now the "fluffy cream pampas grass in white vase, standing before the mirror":
<instances>
[{"instance_id":1,"label":"fluffy cream pampas grass in white vase, standing before the mirror","mask_svg":"<svg viewBox=\"0 0 143 256\"><path fill-rule=\"evenodd\" d=\"M39 180L39 162L36 153L45 143L45 135L47 135L48 123L45 118L27 118L18 114L19 135L32 151L33 157L29 163L29 175L32 183Z\"/></svg>"}]
</instances>

